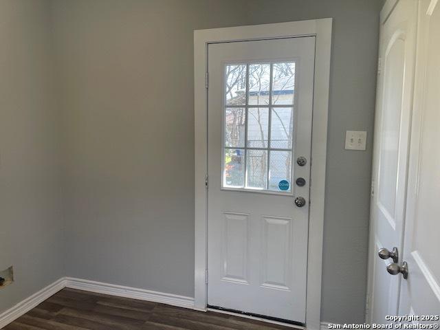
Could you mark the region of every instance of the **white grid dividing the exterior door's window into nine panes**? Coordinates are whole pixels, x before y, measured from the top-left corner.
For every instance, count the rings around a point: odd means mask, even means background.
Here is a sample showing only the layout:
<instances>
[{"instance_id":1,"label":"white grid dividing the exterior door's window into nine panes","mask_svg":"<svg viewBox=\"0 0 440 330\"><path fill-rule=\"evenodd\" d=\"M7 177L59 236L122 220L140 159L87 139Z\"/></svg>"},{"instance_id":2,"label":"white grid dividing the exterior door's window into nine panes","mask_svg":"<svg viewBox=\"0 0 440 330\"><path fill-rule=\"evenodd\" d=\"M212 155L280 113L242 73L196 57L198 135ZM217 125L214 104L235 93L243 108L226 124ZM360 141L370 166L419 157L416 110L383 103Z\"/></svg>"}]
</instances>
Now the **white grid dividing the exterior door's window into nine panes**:
<instances>
[{"instance_id":1,"label":"white grid dividing the exterior door's window into nine panes","mask_svg":"<svg viewBox=\"0 0 440 330\"><path fill-rule=\"evenodd\" d=\"M274 72L274 64L276 63L295 63L295 61L274 61L274 62L269 62L269 63L246 63L246 69L245 69L245 104L230 104L227 105L226 104L226 95L225 93L223 93L223 98L224 98L224 105L223 105L223 115L225 113L225 109L227 108L245 108L245 141L244 141L244 146L237 146L237 147L228 147L225 146L225 138L223 137L223 159L222 159L222 180L221 180L221 186L222 188L226 188L228 190L254 190L254 191L261 191L261 192L268 192L268 193L285 193L285 194L290 194L292 193L292 179L293 179L293 156L294 156L294 135L292 135L291 139L292 141L290 142L291 147L290 148L272 148L272 109L274 108L291 108L292 109L292 115L291 115L291 122L294 121L294 103L295 103L295 99L296 99L296 94L295 94L295 86L296 86L296 65L295 65L295 73L294 73L294 97L292 98L292 103L291 104L273 104L273 72ZM270 80L269 80L269 104L249 104L249 67L250 65L264 65L264 64L270 64ZM296 63L295 63L296 64ZM225 67L227 65L239 65L239 63L234 63L234 64L225 64ZM224 86L223 86L224 87ZM259 147L248 147L248 120L249 120L249 109L250 108L268 108L269 109L269 120L268 120L268 132L267 132L267 147L266 148L259 148ZM223 134L225 133L225 120L223 120ZM294 133L294 132L292 132ZM244 181L243 181L243 186L242 187L235 187L235 186L226 186L225 185L225 151L227 149L243 149L244 150L244 157L243 157L243 169L245 171L244 173ZM267 162L266 162L266 166L267 166L267 177L266 177L266 186L265 189L258 189L258 188L249 188L247 186L247 182L248 182L248 150L264 150L267 151ZM290 164L290 181L289 184L289 190L269 190L270 187L270 152L271 151L290 151L291 152L291 164Z\"/></svg>"}]
</instances>

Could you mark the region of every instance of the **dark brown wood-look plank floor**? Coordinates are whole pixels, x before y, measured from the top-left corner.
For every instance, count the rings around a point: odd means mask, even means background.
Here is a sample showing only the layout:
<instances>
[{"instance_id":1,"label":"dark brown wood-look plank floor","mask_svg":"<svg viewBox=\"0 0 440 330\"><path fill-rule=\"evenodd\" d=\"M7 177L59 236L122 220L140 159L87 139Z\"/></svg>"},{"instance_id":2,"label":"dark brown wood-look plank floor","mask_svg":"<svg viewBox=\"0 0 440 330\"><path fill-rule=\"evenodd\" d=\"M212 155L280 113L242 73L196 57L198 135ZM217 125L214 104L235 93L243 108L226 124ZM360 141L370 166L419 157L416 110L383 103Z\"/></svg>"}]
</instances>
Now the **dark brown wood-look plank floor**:
<instances>
[{"instance_id":1,"label":"dark brown wood-look plank floor","mask_svg":"<svg viewBox=\"0 0 440 330\"><path fill-rule=\"evenodd\" d=\"M63 289L5 330L274 330L266 322Z\"/></svg>"}]
</instances>

